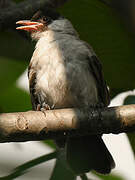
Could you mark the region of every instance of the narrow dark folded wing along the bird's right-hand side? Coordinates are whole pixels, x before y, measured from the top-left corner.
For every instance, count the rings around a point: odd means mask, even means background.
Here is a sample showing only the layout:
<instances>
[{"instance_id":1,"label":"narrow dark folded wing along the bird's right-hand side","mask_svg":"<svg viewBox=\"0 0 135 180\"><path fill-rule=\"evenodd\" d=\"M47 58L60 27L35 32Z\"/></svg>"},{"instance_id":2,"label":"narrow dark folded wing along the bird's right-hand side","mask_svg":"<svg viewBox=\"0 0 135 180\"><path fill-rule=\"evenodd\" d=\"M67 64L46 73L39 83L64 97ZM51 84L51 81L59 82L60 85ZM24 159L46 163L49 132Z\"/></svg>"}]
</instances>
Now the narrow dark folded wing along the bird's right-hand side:
<instances>
[{"instance_id":1,"label":"narrow dark folded wing along the bird's right-hand side","mask_svg":"<svg viewBox=\"0 0 135 180\"><path fill-rule=\"evenodd\" d=\"M104 106L108 106L110 103L110 95L103 77L102 65L96 55L89 56L88 62L90 71L96 80L99 100Z\"/></svg>"}]
</instances>

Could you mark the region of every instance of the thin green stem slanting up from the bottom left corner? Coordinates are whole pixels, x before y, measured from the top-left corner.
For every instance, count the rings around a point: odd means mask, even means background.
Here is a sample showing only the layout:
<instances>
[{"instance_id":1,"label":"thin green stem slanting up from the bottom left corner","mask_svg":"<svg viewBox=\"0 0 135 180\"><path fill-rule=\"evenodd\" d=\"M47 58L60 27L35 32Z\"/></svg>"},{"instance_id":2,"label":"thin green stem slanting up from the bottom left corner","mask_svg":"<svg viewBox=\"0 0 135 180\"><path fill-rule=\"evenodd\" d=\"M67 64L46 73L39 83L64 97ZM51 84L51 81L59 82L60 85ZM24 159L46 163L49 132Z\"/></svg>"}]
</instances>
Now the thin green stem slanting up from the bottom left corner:
<instances>
[{"instance_id":1,"label":"thin green stem slanting up from the bottom left corner","mask_svg":"<svg viewBox=\"0 0 135 180\"><path fill-rule=\"evenodd\" d=\"M26 173L28 169L36 166L36 165L39 165L41 163L44 163L46 161L49 161L51 159L54 159L56 158L57 156L57 152L52 152L50 154L46 154L46 155L43 155L43 156L40 156L36 159L33 159L29 162L26 162L24 164L22 164L21 166L18 166L13 173L11 173L10 175L8 176L3 176L3 177L0 177L1 180L12 180L12 179L15 179L19 176L21 176L22 174Z\"/></svg>"}]
</instances>

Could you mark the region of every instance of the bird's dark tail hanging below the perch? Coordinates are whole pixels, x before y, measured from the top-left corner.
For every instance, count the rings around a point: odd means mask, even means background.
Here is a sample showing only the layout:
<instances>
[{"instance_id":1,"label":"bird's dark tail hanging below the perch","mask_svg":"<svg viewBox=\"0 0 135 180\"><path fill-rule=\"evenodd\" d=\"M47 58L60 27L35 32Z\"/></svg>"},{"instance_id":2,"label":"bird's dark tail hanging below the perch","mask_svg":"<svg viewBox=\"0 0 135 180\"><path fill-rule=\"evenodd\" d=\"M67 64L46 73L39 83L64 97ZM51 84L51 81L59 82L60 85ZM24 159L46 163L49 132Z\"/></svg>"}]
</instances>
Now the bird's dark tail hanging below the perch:
<instances>
[{"instance_id":1,"label":"bird's dark tail hanging below the perch","mask_svg":"<svg viewBox=\"0 0 135 180\"><path fill-rule=\"evenodd\" d=\"M67 161L76 174L95 170L110 173L115 162L101 136L69 138L66 145Z\"/></svg>"}]
</instances>

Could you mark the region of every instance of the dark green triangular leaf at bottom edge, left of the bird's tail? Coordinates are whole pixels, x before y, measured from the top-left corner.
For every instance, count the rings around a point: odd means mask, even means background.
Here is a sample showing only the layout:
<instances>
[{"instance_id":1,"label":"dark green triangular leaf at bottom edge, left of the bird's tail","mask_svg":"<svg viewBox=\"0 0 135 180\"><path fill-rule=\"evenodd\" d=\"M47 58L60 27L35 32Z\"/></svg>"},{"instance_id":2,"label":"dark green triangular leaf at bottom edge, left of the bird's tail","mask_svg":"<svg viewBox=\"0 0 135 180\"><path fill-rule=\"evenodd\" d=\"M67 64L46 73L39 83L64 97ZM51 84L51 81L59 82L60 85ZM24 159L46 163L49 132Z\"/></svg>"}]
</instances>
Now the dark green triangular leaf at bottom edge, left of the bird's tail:
<instances>
[{"instance_id":1,"label":"dark green triangular leaf at bottom edge, left of the bird's tail","mask_svg":"<svg viewBox=\"0 0 135 180\"><path fill-rule=\"evenodd\" d=\"M56 164L50 180L75 180L76 175L69 169L65 160L65 152L60 151L57 156Z\"/></svg>"}]
</instances>

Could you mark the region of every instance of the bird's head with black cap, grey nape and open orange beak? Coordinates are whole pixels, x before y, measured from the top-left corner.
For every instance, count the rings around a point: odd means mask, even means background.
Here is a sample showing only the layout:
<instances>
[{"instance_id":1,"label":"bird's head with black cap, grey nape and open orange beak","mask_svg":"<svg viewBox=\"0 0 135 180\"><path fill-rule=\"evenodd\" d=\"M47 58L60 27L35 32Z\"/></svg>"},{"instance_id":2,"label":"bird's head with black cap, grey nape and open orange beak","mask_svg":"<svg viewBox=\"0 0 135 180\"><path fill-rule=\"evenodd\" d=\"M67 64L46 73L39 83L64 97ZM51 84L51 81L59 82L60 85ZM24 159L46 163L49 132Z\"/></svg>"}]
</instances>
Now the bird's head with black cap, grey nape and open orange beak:
<instances>
[{"instance_id":1,"label":"bird's head with black cap, grey nape and open orange beak","mask_svg":"<svg viewBox=\"0 0 135 180\"><path fill-rule=\"evenodd\" d=\"M34 14L31 20L20 20L16 22L17 25L22 25L16 29L30 32L32 38L38 40L42 32L54 31L77 35L70 21L61 16L53 9L46 9L46 11L38 11Z\"/></svg>"}]
</instances>

